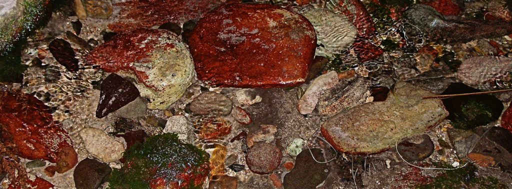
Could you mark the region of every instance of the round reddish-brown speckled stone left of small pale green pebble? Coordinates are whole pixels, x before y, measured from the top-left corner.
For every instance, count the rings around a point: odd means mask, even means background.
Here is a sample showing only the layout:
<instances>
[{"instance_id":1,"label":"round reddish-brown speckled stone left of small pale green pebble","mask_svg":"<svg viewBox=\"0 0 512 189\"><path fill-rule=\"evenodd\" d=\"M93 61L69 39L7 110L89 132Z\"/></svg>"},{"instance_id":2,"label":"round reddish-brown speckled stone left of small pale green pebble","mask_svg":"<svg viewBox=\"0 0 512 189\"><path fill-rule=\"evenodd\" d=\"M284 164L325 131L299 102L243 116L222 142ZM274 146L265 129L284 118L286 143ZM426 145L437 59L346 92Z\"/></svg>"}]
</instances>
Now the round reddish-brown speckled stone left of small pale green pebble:
<instances>
[{"instance_id":1,"label":"round reddish-brown speckled stone left of small pale green pebble","mask_svg":"<svg viewBox=\"0 0 512 189\"><path fill-rule=\"evenodd\" d=\"M247 151L245 161L249 169L256 174L269 174L278 168L283 153L271 143L260 142Z\"/></svg>"}]
</instances>

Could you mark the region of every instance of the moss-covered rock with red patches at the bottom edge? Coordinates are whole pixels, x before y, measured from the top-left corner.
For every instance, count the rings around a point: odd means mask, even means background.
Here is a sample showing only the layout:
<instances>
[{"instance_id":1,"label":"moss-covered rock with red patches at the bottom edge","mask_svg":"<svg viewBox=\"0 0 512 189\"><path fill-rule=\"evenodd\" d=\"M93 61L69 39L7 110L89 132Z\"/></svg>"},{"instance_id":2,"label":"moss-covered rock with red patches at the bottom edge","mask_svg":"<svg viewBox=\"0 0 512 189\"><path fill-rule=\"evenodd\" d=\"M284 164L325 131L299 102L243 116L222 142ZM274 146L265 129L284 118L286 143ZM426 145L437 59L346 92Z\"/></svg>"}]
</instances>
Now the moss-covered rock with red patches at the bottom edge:
<instances>
[{"instance_id":1,"label":"moss-covered rock with red patches at the bottom edge","mask_svg":"<svg viewBox=\"0 0 512 189\"><path fill-rule=\"evenodd\" d=\"M188 182L187 187L199 188L194 185L194 179L205 178L208 174L207 167L203 169L208 162L206 152L181 142L176 134L150 137L127 150L124 158L125 165L112 172L111 188L150 188L150 183L158 179L165 184ZM191 177L184 178L183 174Z\"/></svg>"}]
</instances>

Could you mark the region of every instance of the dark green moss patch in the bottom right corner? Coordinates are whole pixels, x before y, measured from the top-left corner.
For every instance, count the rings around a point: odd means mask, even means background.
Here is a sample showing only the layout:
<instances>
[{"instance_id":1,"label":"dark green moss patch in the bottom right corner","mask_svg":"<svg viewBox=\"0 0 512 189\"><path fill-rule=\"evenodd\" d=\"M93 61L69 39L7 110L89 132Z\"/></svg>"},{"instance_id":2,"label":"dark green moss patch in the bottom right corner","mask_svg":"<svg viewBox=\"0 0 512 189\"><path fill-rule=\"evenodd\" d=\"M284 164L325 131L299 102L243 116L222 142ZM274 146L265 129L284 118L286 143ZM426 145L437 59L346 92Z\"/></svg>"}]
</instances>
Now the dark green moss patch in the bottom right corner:
<instances>
[{"instance_id":1,"label":"dark green moss patch in the bottom right corner","mask_svg":"<svg viewBox=\"0 0 512 189\"><path fill-rule=\"evenodd\" d=\"M446 163L434 163L434 165L446 169L455 168ZM441 172L441 174L434 177L432 182L419 185L417 188L508 188L494 177L477 176L477 167L473 164L468 164L460 169L442 170Z\"/></svg>"}]
</instances>

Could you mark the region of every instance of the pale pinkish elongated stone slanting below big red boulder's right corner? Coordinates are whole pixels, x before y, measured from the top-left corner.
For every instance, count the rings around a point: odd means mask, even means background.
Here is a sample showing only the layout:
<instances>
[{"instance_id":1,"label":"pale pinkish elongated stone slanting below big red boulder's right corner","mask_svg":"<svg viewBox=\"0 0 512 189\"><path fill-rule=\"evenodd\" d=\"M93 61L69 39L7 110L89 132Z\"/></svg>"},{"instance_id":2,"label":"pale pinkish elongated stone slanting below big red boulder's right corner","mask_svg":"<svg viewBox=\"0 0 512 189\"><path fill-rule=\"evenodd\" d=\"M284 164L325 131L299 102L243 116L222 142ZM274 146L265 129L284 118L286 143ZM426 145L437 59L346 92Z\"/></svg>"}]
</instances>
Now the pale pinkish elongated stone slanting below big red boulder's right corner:
<instances>
[{"instance_id":1,"label":"pale pinkish elongated stone slanting below big red boulder's right corner","mask_svg":"<svg viewBox=\"0 0 512 189\"><path fill-rule=\"evenodd\" d=\"M304 95L298 101L298 112L301 114L310 114L315 109L318 98L326 90L334 87L338 83L338 74L335 71L330 71L324 75L318 76L306 89Z\"/></svg>"}]
</instances>

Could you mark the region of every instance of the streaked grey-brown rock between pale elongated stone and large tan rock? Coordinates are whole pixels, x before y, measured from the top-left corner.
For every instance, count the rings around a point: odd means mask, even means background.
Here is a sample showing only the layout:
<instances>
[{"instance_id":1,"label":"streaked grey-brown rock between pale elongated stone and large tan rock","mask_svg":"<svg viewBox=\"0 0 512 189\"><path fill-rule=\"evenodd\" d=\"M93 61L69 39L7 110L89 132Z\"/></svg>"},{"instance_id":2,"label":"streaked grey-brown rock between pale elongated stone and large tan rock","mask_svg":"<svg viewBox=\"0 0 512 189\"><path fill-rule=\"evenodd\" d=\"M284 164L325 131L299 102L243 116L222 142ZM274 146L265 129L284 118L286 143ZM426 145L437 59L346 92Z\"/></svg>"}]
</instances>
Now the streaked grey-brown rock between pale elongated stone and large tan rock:
<instances>
[{"instance_id":1,"label":"streaked grey-brown rock between pale elongated stone and large tan rock","mask_svg":"<svg viewBox=\"0 0 512 189\"><path fill-rule=\"evenodd\" d=\"M367 93L370 86L371 81L362 77L341 80L320 97L318 113L324 116L333 116L364 103L370 96L370 93Z\"/></svg>"}]
</instances>

